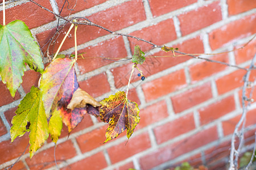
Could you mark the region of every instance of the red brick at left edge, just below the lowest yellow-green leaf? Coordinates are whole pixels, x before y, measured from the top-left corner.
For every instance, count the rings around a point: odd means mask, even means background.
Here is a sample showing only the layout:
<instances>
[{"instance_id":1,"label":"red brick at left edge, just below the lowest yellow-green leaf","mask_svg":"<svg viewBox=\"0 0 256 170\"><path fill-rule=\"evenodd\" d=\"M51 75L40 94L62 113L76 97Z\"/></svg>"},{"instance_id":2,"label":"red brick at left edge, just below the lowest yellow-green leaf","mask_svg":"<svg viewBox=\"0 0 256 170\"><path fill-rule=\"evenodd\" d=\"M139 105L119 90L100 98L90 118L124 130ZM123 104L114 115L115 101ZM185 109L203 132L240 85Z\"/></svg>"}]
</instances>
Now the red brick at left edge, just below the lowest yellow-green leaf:
<instances>
[{"instance_id":1,"label":"red brick at left edge, just below the lowest yellow-green leaf","mask_svg":"<svg viewBox=\"0 0 256 170\"><path fill-rule=\"evenodd\" d=\"M28 133L24 134L23 137L17 137L13 143L11 140L3 141L0 143L0 164L8 162L14 158L18 158L24 152L28 145ZM28 148L26 150L28 153Z\"/></svg>"}]
</instances>

